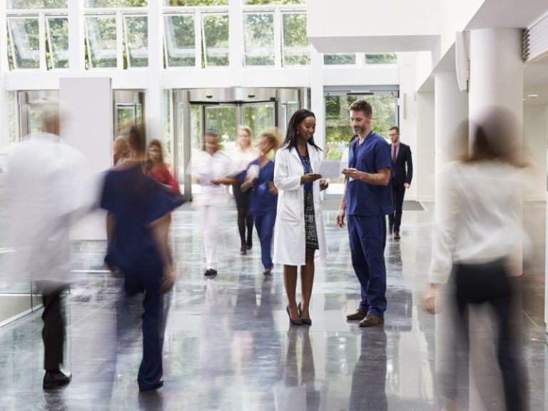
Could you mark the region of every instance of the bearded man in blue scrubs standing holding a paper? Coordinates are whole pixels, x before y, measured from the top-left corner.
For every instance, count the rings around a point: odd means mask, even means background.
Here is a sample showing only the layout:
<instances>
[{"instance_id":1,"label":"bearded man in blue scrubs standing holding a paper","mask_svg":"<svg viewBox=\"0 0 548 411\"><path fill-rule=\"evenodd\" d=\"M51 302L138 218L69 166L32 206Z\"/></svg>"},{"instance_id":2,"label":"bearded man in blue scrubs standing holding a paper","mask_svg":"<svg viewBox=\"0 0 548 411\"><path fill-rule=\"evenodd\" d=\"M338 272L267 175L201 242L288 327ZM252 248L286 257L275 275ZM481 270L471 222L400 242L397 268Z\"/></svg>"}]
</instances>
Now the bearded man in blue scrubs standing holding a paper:
<instances>
[{"instance_id":1,"label":"bearded man in blue scrubs standing holding a paper","mask_svg":"<svg viewBox=\"0 0 548 411\"><path fill-rule=\"evenodd\" d=\"M350 254L362 301L347 320L360 320L360 327L384 323L386 310L385 215L393 212L390 189L390 144L371 129L372 108L365 100L350 106L350 122L358 136L350 143L347 177L337 225L345 226L348 215Z\"/></svg>"}]
</instances>

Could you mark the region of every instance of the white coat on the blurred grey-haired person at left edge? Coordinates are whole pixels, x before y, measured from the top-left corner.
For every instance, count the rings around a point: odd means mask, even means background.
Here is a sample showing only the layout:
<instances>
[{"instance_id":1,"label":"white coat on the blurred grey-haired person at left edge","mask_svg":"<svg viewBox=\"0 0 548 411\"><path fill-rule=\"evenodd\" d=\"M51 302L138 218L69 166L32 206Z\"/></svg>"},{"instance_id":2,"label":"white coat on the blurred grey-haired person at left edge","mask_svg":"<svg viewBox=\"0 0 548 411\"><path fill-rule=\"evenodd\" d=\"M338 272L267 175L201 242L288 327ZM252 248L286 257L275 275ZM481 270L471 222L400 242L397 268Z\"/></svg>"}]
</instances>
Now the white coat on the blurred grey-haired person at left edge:
<instances>
[{"instance_id":1,"label":"white coat on the blurred grey-haired person at left edge","mask_svg":"<svg viewBox=\"0 0 548 411\"><path fill-rule=\"evenodd\" d=\"M9 153L4 207L5 280L70 280L69 229L91 208L83 155L59 136L38 133Z\"/></svg>"}]
</instances>

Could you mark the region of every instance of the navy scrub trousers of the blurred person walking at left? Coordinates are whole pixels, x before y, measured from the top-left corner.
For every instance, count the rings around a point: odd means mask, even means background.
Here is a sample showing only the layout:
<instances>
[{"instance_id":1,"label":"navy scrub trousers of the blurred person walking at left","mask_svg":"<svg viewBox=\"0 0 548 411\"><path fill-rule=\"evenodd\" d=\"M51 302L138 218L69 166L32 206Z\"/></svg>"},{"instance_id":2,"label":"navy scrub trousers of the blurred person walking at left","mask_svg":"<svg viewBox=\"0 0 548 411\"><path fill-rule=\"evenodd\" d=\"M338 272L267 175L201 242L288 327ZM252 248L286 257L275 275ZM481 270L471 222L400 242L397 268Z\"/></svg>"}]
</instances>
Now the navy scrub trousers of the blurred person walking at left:
<instances>
[{"instance_id":1,"label":"navy scrub trousers of the blurred person walking at left","mask_svg":"<svg viewBox=\"0 0 548 411\"><path fill-rule=\"evenodd\" d=\"M148 390L163 375L162 349L166 326L164 295L160 292L162 273L128 273L125 275L128 296L144 293L143 299L143 360L137 376L140 390Z\"/></svg>"}]
</instances>

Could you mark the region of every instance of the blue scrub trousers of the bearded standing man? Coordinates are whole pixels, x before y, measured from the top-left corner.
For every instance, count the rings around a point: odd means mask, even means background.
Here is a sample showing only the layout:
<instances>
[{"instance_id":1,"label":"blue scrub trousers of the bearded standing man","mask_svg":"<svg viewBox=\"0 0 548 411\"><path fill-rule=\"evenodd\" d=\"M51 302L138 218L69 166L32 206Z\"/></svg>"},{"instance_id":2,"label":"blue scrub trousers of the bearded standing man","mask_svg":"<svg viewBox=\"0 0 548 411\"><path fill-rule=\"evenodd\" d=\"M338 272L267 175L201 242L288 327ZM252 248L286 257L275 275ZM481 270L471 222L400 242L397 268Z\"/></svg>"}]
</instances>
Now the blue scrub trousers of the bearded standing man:
<instances>
[{"instance_id":1,"label":"blue scrub trousers of the bearded standing man","mask_svg":"<svg viewBox=\"0 0 548 411\"><path fill-rule=\"evenodd\" d=\"M384 215L348 215L352 266L360 281L360 309L382 317L386 310L386 221Z\"/></svg>"}]
</instances>

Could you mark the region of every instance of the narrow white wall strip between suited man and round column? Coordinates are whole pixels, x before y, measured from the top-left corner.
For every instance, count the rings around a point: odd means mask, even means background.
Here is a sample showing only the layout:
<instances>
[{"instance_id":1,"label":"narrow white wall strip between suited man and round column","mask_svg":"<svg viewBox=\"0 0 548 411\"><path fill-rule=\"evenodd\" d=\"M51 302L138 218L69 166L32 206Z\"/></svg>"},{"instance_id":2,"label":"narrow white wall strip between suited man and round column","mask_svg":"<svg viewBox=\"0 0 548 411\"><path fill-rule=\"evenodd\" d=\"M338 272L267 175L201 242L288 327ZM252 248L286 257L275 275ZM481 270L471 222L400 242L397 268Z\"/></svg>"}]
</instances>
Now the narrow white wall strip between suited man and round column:
<instances>
[{"instance_id":1,"label":"narrow white wall strip between suited man and round column","mask_svg":"<svg viewBox=\"0 0 548 411\"><path fill-rule=\"evenodd\" d=\"M434 92L416 93L417 103L417 201L434 201Z\"/></svg>"}]
</instances>

